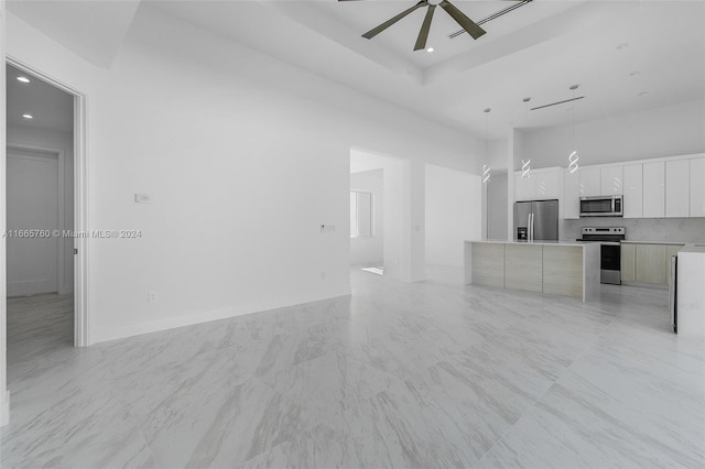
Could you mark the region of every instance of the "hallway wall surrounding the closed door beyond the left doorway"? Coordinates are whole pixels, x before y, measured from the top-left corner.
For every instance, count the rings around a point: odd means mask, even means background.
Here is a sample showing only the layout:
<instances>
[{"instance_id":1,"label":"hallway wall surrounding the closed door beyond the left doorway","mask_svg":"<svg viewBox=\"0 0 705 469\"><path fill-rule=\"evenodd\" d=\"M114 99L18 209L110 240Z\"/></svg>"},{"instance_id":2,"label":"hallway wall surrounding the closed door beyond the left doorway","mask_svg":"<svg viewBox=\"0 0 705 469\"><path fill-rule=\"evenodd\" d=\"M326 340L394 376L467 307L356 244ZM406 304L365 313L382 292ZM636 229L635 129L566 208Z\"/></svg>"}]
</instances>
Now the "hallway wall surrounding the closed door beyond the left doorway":
<instances>
[{"instance_id":1,"label":"hallway wall surrounding the closed door beyond the left doorway","mask_svg":"<svg viewBox=\"0 0 705 469\"><path fill-rule=\"evenodd\" d=\"M74 135L72 132L59 132L29 126L8 124L8 145L41 146L64 151L64 229L74 227ZM59 293L74 291L74 242L70 238L62 240L64 257L64 284Z\"/></svg>"}]
</instances>

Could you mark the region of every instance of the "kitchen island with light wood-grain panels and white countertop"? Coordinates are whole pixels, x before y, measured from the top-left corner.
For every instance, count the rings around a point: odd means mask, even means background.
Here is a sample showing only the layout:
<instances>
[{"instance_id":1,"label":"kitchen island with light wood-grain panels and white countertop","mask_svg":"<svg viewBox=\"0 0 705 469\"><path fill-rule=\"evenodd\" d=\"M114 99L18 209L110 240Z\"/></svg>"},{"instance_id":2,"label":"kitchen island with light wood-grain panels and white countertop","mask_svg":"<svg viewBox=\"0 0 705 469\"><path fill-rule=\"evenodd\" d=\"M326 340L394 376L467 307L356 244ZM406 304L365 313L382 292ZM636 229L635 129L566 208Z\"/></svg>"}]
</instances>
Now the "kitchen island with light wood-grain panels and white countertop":
<instances>
[{"instance_id":1,"label":"kitchen island with light wood-grain panels and white countertop","mask_svg":"<svg viewBox=\"0 0 705 469\"><path fill-rule=\"evenodd\" d=\"M465 241L465 283L567 295L599 294L598 242Z\"/></svg>"}]
</instances>

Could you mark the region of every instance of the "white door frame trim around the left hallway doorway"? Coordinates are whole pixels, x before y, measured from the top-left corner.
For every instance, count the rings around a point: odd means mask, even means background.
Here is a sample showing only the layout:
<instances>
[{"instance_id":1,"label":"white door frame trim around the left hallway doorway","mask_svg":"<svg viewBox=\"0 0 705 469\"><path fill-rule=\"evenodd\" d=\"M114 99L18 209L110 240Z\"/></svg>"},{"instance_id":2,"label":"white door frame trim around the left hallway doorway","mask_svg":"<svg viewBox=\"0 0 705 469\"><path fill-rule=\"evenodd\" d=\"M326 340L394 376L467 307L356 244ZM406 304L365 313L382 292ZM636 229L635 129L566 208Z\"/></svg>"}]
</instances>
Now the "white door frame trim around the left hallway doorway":
<instances>
[{"instance_id":1,"label":"white door frame trim around the left hallway doorway","mask_svg":"<svg viewBox=\"0 0 705 469\"><path fill-rule=\"evenodd\" d=\"M90 345L88 314L88 99L85 92L11 55L6 63L74 97L74 347ZM7 110L2 110L7 112ZM7 168L7 161L2 162ZM3 201L6 204L6 201ZM7 269L7 259L6 259ZM7 296L7 295L6 295ZM7 301L7 298L1 298ZM6 319L7 320L7 319Z\"/></svg>"}]
</instances>

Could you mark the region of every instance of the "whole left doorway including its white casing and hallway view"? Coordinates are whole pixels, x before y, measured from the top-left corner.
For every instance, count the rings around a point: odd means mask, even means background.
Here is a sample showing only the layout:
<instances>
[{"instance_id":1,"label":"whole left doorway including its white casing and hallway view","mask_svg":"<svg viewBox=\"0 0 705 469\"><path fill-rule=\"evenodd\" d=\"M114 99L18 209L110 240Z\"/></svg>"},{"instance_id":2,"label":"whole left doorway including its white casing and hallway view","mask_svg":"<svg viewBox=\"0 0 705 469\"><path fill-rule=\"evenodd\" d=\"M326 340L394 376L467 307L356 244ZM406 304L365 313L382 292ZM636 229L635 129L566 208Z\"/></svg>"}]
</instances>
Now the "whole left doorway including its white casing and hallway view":
<instances>
[{"instance_id":1,"label":"whole left doorway including its white casing and hallway view","mask_svg":"<svg viewBox=\"0 0 705 469\"><path fill-rule=\"evenodd\" d=\"M12 57L7 57L4 78L4 301L11 361L18 358L12 353L18 341L23 347L14 351L43 350L31 347L31 335L21 329L32 327L32 314L43 345L89 345L86 97ZM61 334L54 337L52 327Z\"/></svg>"}]
</instances>

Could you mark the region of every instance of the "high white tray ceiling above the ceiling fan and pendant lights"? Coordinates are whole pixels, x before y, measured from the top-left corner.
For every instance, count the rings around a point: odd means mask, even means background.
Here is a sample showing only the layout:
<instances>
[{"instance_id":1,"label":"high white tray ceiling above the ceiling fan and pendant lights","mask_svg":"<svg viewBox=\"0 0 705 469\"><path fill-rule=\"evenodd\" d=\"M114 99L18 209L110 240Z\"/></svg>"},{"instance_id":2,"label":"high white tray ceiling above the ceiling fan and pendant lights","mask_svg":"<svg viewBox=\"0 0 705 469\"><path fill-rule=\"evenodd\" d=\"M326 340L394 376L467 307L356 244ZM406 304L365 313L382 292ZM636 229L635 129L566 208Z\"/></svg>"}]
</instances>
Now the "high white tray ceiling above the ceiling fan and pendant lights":
<instances>
[{"instance_id":1,"label":"high white tray ceiling above the ceiling fan and pendant lights","mask_svg":"<svg viewBox=\"0 0 705 469\"><path fill-rule=\"evenodd\" d=\"M576 101L576 122L705 100L702 0L533 0L486 23L487 34L477 41L467 34L448 39L460 28L436 9L429 41L433 53L412 51L425 9L372 40L360 37L414 2L142 0L141 4L477 137L485 134L486 126L489 138L501 138L511 128L570 123L571 105L538 111L528 107L573 97L568 90L573 84L581 85L576 96L585 96ZM64 31L63 44L73 50L94 33L73 37L66 31L77 18L98 18L104 28L95 34L112 46L93 51L102 54L94 62L109 63L137 0L122 7L111 28L108 13L115 13L121 1L20 3L34 6L8 8L54 35ZM72 20L62 28L66 14L54 13L63 3ZM80 13L82 3L91 6ZM454 4L479 21L510 2ZM100 6L105 11L97 14ZM55 24L45 24L47 11ZM626 48L617 48L625 43ZM632 72L639 74L631 76ZM642 91L648 92L639 96ZM522 102L524 97L532 98L529 106ZM492 111L485 114L485 108Z\"/></svg>"}]
</instances>

